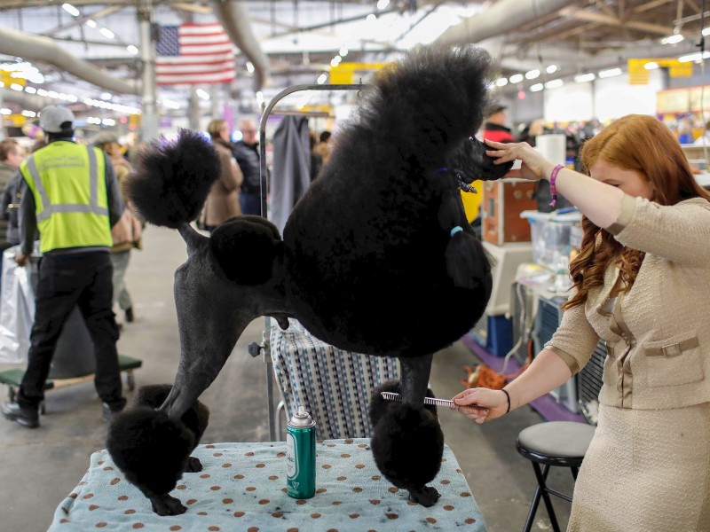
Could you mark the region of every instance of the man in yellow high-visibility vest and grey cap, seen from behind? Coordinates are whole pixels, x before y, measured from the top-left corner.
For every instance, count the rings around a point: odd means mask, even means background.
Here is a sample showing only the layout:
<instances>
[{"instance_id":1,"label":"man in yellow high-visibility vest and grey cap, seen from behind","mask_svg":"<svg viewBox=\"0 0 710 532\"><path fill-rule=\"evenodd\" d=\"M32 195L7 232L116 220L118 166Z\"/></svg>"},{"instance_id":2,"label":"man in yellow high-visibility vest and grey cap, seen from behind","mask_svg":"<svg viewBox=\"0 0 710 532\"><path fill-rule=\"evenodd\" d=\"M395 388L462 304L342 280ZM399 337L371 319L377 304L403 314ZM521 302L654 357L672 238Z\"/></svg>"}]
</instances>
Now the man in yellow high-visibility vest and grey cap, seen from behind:
<instances>
[{"instance_id":1,"label":"man in yellow high-visibility vest and grey cap, seen from behind","mask_svg":"<svg viewBox=\"0 0 710 532\"><path fill-rule=\"evenodd\" d=\"M30 333L28 367L17 401L2 411L28 428L39 426L38 408L51 359L67 317L78 306L91 334L96 356L94 385L110 420L126 404L116 351L118 327L111 310L113 286L108 250L111 227L123 212L114 168L93 146L77 145L74 113L67 107L46 106L39 123L48 144L20 165L20 252L25 266L39 230L39 280L35 323Z\"/></svg>"}]
</instances>

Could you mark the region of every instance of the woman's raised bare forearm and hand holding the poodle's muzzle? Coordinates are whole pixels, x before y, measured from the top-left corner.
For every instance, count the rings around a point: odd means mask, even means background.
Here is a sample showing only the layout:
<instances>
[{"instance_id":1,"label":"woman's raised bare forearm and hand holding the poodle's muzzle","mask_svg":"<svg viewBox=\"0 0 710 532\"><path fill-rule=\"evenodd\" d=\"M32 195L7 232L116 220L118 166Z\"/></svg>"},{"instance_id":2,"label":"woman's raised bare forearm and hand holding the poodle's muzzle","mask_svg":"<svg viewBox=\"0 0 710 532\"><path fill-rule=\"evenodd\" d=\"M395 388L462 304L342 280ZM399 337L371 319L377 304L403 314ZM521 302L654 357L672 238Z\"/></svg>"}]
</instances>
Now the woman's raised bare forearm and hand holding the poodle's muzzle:
<instances>
[{"instance_id":1,"label":"woman's raised bare forearm and hand holding the poodle's muzzle","mask_svg":"<svg viewBox=\"0 0 710 532\"><path fill-rule=\"evenodd\" d=\"M498 157L495 164L502 164L509 160L522 160L521 177L524 179L546 179L549 181L552 170L555 168L553 163L527 143L501 144L486 140L485 144L493 148L486 151L486 154ZM597 227L607 229L619 218L624 192L618 188L596 181L569 168L559 171L555 186Z\"/></svg>"}]
</instances>

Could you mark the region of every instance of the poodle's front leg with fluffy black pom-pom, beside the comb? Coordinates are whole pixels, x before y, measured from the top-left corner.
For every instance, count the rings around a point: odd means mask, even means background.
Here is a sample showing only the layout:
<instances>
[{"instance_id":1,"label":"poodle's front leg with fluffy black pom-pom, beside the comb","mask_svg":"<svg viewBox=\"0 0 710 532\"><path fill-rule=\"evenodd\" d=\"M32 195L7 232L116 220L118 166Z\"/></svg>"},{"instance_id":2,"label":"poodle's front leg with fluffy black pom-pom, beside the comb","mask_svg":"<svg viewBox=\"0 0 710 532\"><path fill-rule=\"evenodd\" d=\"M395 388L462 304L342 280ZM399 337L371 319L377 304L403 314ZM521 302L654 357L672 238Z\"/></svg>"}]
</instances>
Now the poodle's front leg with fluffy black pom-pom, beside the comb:
<instances>
[{"instance_id":1,"label":"poodle's front leg with fluffy black pom-pom, beside the comb","mask_svg":"<svg viewBox=\"0 0 710 532\"><path fill-rule=\"evenodd\" d=\"M422 506L436 504L437 489L427 486L441 467L444 434L436 407L424 406L432 356L402 358L401 382L389 382L375 391L370 405L374 427L370 447L384 477ZM396 391L402 402L385 401L381 391Z\"/></svg>"}]
</instances>

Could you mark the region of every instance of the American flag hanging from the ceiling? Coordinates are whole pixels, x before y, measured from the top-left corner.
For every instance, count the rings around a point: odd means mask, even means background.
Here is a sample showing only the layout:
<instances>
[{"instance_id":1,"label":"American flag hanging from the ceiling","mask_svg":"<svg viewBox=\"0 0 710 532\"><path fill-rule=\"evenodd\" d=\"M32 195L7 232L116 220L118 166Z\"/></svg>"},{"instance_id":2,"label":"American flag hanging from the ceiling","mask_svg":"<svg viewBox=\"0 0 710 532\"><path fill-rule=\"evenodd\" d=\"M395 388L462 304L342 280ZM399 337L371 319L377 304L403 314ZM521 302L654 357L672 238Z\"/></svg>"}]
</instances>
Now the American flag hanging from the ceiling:
<instances>
[{"instance_id":1,"label":"American flag hanging from the ceiling","mask_svg":"<svg viewBox=\"0 0 710 532\"><path fill-rule=\"evenodd\" d=\"M234 77L234 47L218 22L162 26L155 43L158 85L213 84Z\"/></svg>"}]
</instances>

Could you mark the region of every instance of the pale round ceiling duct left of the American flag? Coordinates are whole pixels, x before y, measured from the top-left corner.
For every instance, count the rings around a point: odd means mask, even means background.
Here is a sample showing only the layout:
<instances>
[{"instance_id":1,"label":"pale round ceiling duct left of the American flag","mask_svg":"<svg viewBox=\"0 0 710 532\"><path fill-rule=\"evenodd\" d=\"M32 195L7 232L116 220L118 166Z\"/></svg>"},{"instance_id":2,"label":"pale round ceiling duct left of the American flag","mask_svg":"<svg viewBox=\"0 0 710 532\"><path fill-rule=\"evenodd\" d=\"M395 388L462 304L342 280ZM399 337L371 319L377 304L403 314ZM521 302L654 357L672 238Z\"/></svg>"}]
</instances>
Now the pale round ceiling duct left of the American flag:
<instances>
[{"instance_id":1,"label":"pale round ceiling duct left of the American flag","mask_svg":"<svg viewBox=\"0 0 710 532\"><path fill-rule=\"evenodd\" d=\"M0 53L22 59L51 63L79 79L103 87L111 92L140 94L138 84L124 82L112 77L105 70L62 50L57 43L48 37L28 35L13 29L0 27Z\"/></svg>"}]
</instances>

